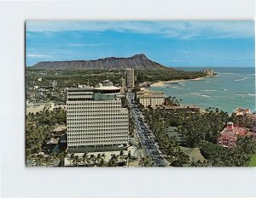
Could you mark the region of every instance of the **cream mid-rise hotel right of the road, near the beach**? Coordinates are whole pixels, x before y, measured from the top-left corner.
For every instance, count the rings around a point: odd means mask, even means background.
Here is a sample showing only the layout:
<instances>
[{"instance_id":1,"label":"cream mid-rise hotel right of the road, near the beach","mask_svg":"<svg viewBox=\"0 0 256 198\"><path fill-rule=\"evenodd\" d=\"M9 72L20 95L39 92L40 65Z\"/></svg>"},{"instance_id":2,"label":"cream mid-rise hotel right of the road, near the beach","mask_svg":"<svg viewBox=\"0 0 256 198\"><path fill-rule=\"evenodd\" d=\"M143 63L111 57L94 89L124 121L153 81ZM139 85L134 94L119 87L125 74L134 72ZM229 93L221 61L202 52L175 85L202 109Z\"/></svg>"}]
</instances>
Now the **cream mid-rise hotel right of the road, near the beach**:
<instances>
[{"instance_id":1,"label":"cream mid-rise hotel right of the road, near the beach","mask_svg":"<svg viewBox=\"0 0 256 198\"><path fill-rule=\"evenodd\" d=\"M137 99L139 99L139 103L144 107L148 105L154 107L165 103L166 94L163 91L153 92L142 89L142 91L137 92Z\"/></svg>"}]
</instances>

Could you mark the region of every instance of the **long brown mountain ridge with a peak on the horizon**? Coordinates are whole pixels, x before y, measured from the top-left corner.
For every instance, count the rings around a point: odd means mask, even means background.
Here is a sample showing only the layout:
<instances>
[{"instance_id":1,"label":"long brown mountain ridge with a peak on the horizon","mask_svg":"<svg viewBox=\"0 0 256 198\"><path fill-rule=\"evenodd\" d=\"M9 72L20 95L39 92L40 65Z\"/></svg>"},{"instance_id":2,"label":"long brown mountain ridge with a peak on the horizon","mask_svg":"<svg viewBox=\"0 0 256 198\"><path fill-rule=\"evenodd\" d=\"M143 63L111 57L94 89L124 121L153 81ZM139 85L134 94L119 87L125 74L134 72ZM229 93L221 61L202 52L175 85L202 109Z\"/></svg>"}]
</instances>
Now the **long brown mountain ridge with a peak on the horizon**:
<instances>
[{"instance_id":1,"label":"long brown mountain ridge with a peak on the horizon","mask_svg":"<svg viewBox=\"0 0 256 198\"><path fill-rule=\"evenodd\" d=\"M148 59L144 54L136 54L128 58L108 57L96 60L42 61L32 65L32 69L48 70L160 70L170 69Z\"/></svg>"}]
</instances>

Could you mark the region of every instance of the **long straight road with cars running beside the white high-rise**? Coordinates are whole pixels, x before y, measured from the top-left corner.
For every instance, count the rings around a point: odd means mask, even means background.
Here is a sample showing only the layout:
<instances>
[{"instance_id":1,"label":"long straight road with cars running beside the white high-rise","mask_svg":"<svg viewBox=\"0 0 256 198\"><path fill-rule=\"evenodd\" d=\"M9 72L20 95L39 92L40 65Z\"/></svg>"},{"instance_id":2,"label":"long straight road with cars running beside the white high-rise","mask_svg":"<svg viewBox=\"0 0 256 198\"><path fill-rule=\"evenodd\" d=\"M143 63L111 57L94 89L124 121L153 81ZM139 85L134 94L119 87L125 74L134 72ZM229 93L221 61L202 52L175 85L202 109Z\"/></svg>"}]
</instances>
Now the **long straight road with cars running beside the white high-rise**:
<instances>
[{"instance_id":1,"label":"long straight road with cars running beside the white high-rise","mask_svg":"<svg viewBox=\"0 0 256 198\"><path fill-rule=\"evenodd\" d=\"M135 120L137 137L143 147L143 156L150 156L157 167L166 167L166 160L160 156L158 145L154 142L154 134L145 124L143 114L134 102L134 93L128 92L127 99L131 109L131 116Z\"/></svg>"}]
</instances>

